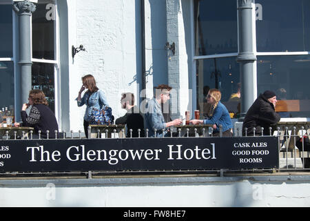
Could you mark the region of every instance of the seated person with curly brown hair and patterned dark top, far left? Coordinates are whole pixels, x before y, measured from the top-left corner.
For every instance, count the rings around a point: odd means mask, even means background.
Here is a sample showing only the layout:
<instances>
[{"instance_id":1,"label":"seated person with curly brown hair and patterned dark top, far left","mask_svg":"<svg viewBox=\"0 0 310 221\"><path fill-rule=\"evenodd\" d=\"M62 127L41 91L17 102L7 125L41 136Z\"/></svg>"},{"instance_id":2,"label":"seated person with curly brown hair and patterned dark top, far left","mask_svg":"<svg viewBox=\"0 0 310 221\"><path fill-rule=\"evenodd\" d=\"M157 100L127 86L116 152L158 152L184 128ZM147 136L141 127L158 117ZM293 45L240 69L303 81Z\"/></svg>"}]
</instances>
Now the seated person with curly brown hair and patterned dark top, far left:
<instances>
[{"instance_id":1,"label":"seated person with curly brown hair and patterned dark top, far left","mask_svg":"<svg viewBox=\"0 0 310 221\"><path fill-rule=\"evenodd\" d=\"M33 138L39 138L41 131L42 138L55 138L55 131L58 132L58 124L54 113L48 107L48 101L42 90L30 90L29 103L23 104L21 108L22 123L14 123L14 126L30 126L34 128ZM29 116L26 109L32 105ZM49 135L47 132L49 131Z\"/></svg>"}]
</instances>

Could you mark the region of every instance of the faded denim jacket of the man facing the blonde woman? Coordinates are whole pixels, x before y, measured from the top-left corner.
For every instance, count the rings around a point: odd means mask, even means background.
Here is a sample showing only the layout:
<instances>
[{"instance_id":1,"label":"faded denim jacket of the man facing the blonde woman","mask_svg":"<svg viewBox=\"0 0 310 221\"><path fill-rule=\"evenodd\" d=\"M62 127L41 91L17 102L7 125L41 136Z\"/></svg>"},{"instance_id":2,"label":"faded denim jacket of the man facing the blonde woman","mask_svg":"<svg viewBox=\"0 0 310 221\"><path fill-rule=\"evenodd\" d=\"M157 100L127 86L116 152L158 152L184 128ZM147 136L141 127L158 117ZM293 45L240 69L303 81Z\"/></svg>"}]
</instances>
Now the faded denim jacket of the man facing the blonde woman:
<instances>
[{"instance_id":1,"label":"faded denim jacket of the man facing the blonde woman","mask_svg":"<svg viewBox=\"0 0 310 221\"><path fill-rule=\"evenodd\" d=\"M145 135L146 129L148 131L148 137L154 137L156 129L156 137L164 137L167 131L163 132L163 129L166 128L165 119L161 111L161 105L158 104L155 98L150 99L145 105L145 115L144 115L144 127Z\"/></svg>"}]
</instances>

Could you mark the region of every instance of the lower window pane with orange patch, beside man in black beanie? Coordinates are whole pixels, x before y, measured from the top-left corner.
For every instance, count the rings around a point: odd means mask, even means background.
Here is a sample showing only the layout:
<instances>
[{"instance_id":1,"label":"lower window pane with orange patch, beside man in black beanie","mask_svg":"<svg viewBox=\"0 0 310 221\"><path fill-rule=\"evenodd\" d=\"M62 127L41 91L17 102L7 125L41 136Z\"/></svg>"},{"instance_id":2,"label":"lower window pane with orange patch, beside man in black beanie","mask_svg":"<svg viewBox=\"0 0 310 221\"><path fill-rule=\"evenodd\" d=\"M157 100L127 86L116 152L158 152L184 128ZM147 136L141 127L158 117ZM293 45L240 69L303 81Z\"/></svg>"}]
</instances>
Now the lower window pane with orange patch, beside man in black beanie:
<instances>
[{"instance_id":1,"label":"lower window pane with orange patch, beside man in black beanie","mask_svg":"<svg viewBox=\"0 0 310 221\"><path fill-rule=\"evenodd\" d=\"M258 95L273 90L281 117L309 117L310 56L259 56Z\"/></svg>"}]
</instances>

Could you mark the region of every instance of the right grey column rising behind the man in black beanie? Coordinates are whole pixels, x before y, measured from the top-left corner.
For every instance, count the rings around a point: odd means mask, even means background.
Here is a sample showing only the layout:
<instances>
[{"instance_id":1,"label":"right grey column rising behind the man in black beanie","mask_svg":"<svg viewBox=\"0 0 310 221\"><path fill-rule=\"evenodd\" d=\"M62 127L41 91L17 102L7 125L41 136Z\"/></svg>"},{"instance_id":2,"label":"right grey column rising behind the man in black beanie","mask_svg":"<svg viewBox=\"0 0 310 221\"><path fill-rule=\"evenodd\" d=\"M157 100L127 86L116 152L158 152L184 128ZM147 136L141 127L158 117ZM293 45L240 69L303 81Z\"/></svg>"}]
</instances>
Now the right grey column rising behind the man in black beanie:
<instances>
[{"instance_id":1,"label":"right grey column rising behind the man in black beanie","mask_svg":"<svg viewBox=\"0 0 310 221\"><path fill-rule=\"evenodd\" d=\"M238 9L238 57L240 63L240 82L241 82L241 117L245 116L247 110L253 104L257 95L256 73L254 65L256 55L254 54L253 44L253 19L252 1L237 0Z\"/></svg>"}]
</instances>

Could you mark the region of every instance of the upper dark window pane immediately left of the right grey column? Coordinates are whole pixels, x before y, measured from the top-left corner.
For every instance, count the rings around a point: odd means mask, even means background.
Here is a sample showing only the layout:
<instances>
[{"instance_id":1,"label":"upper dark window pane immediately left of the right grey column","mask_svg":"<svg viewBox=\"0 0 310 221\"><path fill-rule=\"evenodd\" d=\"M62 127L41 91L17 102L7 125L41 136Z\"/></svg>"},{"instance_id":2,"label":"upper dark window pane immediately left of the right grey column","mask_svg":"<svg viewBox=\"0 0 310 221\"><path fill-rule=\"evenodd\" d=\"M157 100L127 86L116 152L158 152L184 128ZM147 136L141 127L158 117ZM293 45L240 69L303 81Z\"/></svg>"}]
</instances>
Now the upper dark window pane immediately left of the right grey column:
<instances>
[{"instance_id":1,"label":"upper dark window pane immediately left of the right grey column","mask_svg":"<svg viewBox=\"0 0 310 221\"><path fill-rule=\"evenodd\" d=\"M238 52L236 1L194 0L195 55Z\"/></svg>"}]
</instances>

